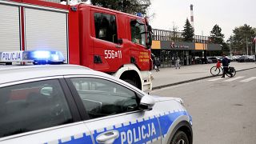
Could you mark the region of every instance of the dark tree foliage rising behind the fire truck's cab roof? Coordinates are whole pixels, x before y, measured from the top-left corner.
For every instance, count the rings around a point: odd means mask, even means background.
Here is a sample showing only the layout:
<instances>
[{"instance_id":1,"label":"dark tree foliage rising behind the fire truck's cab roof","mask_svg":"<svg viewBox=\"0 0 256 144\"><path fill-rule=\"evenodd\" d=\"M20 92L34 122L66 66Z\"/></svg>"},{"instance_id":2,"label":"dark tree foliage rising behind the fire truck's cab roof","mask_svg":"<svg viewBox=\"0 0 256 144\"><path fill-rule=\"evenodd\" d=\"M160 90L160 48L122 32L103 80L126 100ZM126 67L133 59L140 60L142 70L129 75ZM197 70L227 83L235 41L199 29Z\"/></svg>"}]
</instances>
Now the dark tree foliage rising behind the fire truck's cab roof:
<instances>
[{"instance_id":1,"label":"dark tree foliage rising behind the fire truck's cab roof","mask_svg":"<svg viewBox=\"0 0 256 144\"><path fill-rule=\"evenodd\" d=\"M102 6L112 10L118 10L129 14L146 14L150 6L150 0L91 0L94 6Z\"/></svg>"}]
</instances>

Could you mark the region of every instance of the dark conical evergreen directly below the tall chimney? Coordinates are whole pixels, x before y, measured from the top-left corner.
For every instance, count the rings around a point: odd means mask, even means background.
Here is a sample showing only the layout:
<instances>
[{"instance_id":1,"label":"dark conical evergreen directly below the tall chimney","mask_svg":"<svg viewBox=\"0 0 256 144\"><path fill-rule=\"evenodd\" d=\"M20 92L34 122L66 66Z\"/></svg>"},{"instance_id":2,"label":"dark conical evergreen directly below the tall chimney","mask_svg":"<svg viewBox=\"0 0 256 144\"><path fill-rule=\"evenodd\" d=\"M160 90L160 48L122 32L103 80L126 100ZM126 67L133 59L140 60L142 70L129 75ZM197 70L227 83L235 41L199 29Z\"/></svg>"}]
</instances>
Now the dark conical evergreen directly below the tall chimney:
<instances>
[{"instance_id":1,"label":"dark conical evergreen directly below the tall chimney","mask_svg":"<svg viewBox=\"0 0 256 144\"><path fill-rule=\"evenodd\" d=\"M194 39L194 28L191 26L190 21L186 18L184 30L182 30L182 36L185 42L193 42Z\"/></svg>"}]
</instances>

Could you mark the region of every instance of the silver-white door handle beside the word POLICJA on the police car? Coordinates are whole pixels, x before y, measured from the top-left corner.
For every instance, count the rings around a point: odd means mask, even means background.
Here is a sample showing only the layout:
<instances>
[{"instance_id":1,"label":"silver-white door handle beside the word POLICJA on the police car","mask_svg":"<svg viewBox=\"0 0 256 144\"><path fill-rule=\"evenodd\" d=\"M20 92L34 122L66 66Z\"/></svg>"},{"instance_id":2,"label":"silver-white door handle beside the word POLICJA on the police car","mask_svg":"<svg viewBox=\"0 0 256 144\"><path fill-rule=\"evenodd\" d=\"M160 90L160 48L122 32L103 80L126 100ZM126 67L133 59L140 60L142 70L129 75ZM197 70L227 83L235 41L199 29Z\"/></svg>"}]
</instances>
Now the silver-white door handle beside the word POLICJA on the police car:
<instances>
[{"instance_id":1,"label":"silver-white door handle beside the word POLICJA on the police car","mask_svg":"<svg viewBox=\"0 0 256 144\"><path fill-rule=\"evenodd\" d=\"M99 134L96 138L98 143L113 143L116 138L119 137L119 132L117 130L107 131L105 133Z\"/></svg>"}]
</instances>

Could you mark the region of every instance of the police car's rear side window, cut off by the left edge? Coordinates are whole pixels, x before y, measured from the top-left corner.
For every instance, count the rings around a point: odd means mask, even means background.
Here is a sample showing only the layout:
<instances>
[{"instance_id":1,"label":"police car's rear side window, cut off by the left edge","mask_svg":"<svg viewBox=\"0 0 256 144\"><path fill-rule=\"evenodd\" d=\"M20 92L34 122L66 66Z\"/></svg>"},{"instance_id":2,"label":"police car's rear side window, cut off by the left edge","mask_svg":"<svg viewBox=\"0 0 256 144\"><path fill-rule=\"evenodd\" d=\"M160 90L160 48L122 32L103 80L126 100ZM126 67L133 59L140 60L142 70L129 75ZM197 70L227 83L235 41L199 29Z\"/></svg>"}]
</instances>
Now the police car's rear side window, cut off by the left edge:
<instances>
[{"instance_id":1,"label":"police car's rear side window, cut off by the left edge","mask_svg":"<svg viewBox=\"0 0 256 144\"><path fill-rule=\"evenodd\" d=\"M58 80L0 88L0 138L72 122Z\"/></svg>"}]
</instances>

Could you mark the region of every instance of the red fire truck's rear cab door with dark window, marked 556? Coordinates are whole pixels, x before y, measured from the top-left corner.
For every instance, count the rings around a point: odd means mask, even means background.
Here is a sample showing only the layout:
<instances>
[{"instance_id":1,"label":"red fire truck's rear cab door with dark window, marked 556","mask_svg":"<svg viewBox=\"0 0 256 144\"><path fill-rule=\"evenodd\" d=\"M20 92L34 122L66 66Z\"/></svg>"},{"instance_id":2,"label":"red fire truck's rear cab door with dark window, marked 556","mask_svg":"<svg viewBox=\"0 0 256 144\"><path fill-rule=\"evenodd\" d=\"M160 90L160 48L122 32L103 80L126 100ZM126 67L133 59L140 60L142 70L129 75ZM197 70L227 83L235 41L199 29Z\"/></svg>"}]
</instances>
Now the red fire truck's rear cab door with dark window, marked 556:
<instances>
[{"instance_id":1,"label":"red fire truck's rear cab door with dark window, marked 556","mask_svg":"<svg viewBox=\"0 0 256 144\"><path fill-rule=\"evenodd\" d=\"M94 30L94 70L117 71L122 62L122 45L118 44L118 19L114 13L92 11Z\"/></svg>"}]
</instances>

